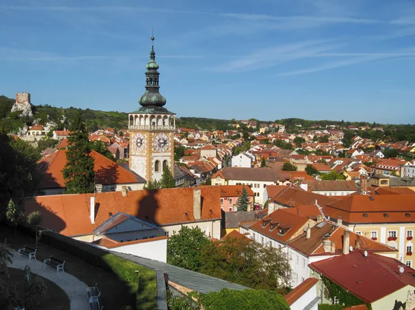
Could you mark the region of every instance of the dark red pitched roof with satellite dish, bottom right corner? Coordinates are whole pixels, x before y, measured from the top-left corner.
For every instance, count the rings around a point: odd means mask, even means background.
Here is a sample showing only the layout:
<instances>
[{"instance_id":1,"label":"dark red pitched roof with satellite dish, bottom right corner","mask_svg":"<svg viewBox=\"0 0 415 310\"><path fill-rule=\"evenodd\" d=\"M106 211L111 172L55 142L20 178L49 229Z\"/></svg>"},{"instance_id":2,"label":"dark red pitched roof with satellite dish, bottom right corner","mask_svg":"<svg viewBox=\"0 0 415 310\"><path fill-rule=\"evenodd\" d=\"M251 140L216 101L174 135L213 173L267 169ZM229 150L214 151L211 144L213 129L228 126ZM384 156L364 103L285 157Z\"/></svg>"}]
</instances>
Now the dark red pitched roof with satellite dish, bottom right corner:
<instances>
[{"instance_id":1,"label":"dark red pitched roof with satellite dish, bottom right corner","mask_svg":"<svg viewBox=\"0 0 415 310\"><path fill-rule=\"evenodd\" d=\"M407 285L415 287L415 270L393 258L353 251L308 265L365 302L375 302ZM400 267L403 273L400 273ZM376 276L374 276L376 275Z\"/></svg>"}]
</instances>

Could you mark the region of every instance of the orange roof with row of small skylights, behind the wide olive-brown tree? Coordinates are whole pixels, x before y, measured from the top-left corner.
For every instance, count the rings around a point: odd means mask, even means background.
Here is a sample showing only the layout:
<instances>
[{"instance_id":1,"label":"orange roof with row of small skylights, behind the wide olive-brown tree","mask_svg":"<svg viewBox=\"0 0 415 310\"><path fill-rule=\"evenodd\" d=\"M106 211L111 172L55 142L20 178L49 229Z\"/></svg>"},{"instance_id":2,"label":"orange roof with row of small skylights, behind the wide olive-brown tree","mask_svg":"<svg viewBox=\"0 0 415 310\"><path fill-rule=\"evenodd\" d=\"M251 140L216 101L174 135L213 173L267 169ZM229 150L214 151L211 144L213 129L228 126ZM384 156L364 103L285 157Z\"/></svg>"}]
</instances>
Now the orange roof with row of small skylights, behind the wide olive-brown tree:
<instances>
[{"instance_id":1,"label":"orange roof with row of small skylights, behind the wide olive-brown tree","mask_svg":"<svg viewBox=\"0 0 415 310\"><path fill-rule=\"evenodd\" d=\"M306 217L288 213L284 209L278 209L257 221L250 226L250 229L284 243L301 233L308 221ZM283 233L280 233L280 229L283 230Z\"/></svg>"}]
</instances>

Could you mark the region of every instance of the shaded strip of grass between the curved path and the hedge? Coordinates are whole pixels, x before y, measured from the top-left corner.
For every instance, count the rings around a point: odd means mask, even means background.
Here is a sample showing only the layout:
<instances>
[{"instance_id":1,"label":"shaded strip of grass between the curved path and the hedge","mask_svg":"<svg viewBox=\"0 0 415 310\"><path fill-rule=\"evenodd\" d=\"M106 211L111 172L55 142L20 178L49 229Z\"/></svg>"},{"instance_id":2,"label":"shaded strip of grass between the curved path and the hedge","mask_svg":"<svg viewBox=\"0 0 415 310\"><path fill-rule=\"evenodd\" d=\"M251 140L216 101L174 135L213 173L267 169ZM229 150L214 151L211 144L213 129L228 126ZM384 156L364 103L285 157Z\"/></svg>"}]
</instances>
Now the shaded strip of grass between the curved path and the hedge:
<instances>
[{"instance_id":1,"label":"shaded strip of grass between the curved path and the hedge","mask_svg":"<svg viewBox=\"0 0 415 310\"><path fill-rule=\"evenodd\" d=\"M35 238L30 238L29 235L20 233L13 229L0 225L0 242L7 240L7 243L12 249L19 249L27 244L30 247L35 247ZM102 304L104 309L124 310L128 304L135 304L137 285L130 284L118 278L114 273L94 267L91 264L75 258L64 251L53 248L46 244L39 244L37 250L37 260L43 261L49 258L50 255L59 260L66 260L65 271L75 276L89 287L93 287L98 283L98 287L102 292Z\"/></svg>"}]
</instances>

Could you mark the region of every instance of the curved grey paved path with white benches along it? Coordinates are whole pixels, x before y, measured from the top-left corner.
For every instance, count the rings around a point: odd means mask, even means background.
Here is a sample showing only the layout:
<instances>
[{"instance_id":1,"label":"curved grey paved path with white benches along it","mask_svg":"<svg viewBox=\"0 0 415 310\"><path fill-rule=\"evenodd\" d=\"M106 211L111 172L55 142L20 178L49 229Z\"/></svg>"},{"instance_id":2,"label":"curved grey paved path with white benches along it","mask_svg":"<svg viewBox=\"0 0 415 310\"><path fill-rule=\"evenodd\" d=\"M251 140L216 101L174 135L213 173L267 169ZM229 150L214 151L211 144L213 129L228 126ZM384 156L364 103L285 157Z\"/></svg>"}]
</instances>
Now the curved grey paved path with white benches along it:
<instances>
[{"instance_id":1,"label":"curved grey paved path with white benches along it","mask_svg":"<svg viewBox=\"0 0 415 310\"><path fill-rule=\"evenodd\" d=\"M57 274L56 269L53 269L50 266L43 268L43 262L39 262L37 260L29 262L27 256L21 255L19 258L17 252L13 253L15 254L15 257L13 258L13 263L8 264L9 267L24 269L24 267L28 265L28 267L30 267L30 271L54 282L58 287L65 291L68 295L69 301L71 302L71 310L89 309L89 302L86 297L87 286L84 282L78 280L69 273L59 271L59 274Z\"/></svg>"}]
</instances>

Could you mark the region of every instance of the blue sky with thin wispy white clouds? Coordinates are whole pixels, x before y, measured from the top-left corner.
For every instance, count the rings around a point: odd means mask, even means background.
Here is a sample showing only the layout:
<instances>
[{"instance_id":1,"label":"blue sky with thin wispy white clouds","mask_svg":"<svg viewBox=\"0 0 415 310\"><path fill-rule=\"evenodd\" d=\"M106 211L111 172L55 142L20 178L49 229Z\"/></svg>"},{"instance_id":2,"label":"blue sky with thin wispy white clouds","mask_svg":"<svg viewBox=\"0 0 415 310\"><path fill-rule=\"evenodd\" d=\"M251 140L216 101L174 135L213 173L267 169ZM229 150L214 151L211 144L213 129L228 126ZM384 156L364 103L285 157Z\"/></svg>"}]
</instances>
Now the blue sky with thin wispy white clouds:
<instances>
[{"instance_id":1,"label":"blue sky with thin wispy white clouds","mask_svg":"<svg viewBox=\"0 0 415 310\"><path fill-rule=\"evenodd\" d=\"M0 0L0 94L178 117L415 123L415 1Z\"/></svg>"}]
</instances>

